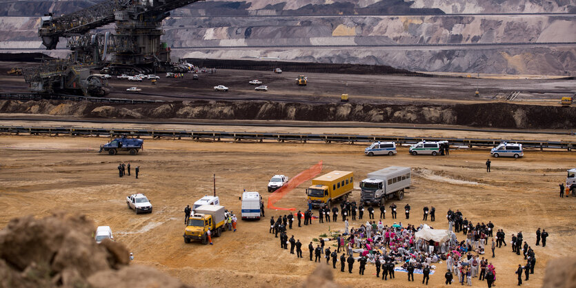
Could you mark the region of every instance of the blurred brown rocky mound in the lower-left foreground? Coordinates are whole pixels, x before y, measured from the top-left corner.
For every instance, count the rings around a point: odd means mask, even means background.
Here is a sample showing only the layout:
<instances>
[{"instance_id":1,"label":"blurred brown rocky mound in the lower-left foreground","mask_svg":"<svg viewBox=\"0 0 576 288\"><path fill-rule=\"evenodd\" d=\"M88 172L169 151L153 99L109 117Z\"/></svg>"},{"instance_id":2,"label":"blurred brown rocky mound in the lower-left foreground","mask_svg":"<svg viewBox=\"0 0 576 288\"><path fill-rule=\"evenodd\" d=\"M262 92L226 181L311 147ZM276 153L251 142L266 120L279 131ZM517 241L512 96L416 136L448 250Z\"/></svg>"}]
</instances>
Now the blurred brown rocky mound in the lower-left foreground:
<instances>
[{"instance_id":1,"label":"blurred brown rocky mound in the lower-left foreground","mask_svg":"<svg viewBox=\"0 0 576 288\"><path fill-rule=\"evenodd\" d=\"M85 216L63 213L10 220L0 231L0 287L186 287L157 269L128 266L128 249L97 244L94 231Z\"/></svg>"}]
</instances>

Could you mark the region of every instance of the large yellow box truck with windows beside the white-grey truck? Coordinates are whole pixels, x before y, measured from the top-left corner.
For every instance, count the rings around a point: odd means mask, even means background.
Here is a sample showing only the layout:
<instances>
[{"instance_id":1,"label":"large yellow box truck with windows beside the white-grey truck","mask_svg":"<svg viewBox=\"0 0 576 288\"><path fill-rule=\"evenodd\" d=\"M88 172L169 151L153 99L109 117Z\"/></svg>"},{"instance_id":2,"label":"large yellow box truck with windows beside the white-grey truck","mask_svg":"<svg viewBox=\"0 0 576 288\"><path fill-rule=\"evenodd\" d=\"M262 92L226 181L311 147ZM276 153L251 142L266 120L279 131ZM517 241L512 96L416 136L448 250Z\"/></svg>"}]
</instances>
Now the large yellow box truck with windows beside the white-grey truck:
<instances>
[{"instance_id":1,"label":"large yellow box truck with windows beside the white-grey truck","mask_svg":"<svg viewBox=\"0 0 576 288\"><path fill-rule=\"evenodd\" d=\"M335 200L346 200L354 189L353 176L354 173L348 171L332 171L312 179L312 186L306 189L312 207L330 208Z\"/></svg>"}]
</instances>

